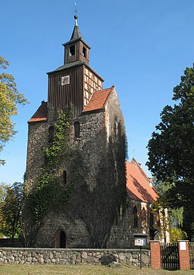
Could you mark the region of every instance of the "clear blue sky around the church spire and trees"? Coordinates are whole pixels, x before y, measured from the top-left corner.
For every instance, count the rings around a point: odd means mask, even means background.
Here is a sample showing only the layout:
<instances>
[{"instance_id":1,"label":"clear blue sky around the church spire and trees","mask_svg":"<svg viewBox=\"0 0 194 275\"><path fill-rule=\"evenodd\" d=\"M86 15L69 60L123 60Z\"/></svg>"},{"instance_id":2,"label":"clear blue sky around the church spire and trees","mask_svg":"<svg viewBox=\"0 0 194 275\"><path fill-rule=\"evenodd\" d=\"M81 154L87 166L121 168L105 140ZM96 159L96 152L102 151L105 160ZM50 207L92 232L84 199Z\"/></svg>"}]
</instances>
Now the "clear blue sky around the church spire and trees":
<instances>
[{"instance_id":1,"label":"clear blue sky around the church spire and trees","mask_svg":"<svg viewBox=\"0 0 194 275\"><path fill-rule=\"evenodd\" d=\"M91 46L89 65L116 85L128 140L129 159L148 160L146 146L159 113L172 104L194 58L193 0L78 0L78 24ZM22 181L26 169L27 121L47 101L47 75L63 64L62 43L74 26L74 1L1 1L0 55L8 59L19 92L30 104L13 117L18 131L1 153L0 182Z\"/></svg>"}]
</instances>

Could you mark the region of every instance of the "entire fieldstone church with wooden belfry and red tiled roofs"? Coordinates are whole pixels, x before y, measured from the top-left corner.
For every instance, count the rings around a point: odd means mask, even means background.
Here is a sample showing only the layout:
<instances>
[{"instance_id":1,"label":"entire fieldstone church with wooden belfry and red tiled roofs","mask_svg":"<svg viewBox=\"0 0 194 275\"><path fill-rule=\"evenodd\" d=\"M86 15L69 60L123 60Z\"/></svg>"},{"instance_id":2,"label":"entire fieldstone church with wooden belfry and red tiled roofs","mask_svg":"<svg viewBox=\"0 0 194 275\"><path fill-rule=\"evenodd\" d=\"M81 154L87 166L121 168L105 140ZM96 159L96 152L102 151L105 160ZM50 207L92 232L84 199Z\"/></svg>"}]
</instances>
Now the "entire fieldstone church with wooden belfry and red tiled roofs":
<instances>
[{"instance_id":1,"label":"entire fieldstone church with wooden belfry and red tiled roofs","mask_svg":"<svg viewBox=\"0 0 194 275\"><path fill-rule=\"evenodd\" d=\"M136 160L125 162L116 87L103 89L74 18L71 39L63 44L64 65L47 73L48 101L28 121L24 246L129 248L133 233L154 236L150 210L157 191ZM69 109L68 142L55 169L45 168L46 152L59 136L58 114Z\"/></svg>"}]
</instances>

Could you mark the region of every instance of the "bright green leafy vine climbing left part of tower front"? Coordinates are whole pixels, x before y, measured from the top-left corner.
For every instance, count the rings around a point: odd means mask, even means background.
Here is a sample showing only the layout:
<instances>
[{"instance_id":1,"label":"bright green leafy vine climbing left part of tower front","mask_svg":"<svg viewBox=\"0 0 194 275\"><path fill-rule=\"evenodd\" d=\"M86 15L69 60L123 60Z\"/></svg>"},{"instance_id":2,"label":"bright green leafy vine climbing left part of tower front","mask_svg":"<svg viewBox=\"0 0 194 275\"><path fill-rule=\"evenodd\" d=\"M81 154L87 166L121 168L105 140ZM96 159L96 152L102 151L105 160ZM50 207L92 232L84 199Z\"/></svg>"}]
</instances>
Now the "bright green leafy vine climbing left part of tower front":
<instances>
[{"instance_id":1,"label":"bright green leafy vine climbing left part of tower front","mask_svg":"<svg viewBox=\"0 0 194 275\"><path fill-rule=\"evenodd\" d=\"M69 153L69 134L72 120L71 110L58 114L53 142L45 149L41 175L27 195L28 203L38 224L48 209L58 209L60 203L67 202L73 190L73 183L62 188L61 160Z\"/></svg>"}]
</instances>

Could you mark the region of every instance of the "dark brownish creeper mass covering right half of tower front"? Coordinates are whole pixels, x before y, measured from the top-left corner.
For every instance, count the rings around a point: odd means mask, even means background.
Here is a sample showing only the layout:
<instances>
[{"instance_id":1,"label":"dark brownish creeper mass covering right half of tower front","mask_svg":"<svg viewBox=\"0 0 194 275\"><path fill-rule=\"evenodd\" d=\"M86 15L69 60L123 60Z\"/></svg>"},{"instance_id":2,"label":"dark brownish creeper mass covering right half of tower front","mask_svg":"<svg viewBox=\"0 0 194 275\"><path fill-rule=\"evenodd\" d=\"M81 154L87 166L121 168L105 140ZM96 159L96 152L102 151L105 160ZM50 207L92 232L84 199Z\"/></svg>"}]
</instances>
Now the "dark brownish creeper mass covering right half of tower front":
<instances>
[{"instance_id":1,"label":"dark brownish creeper mass covering right half of tower front","mask_svg":"<svg viewBox=\"0 0 194 275\"><path fill-rule=\"evenodd\" d=\"M103 129L104 130L104 129ZM101 137L101 133L99 138ZM97 138L98 140L98 138ZM118 141L109 138L108 148L101 154L94 176L95 188L82 186L82 218L87 224L94 248L105 248L116 213L126 199L125 136ZM91 142L96 142L91 140ZM98 142L100 144L100 140ZM118 181L119 178L119 181ZM119 188L118 188L119 187ZM96 217L98 217L96 219ZM112 261L111 261L112 263Z\"/></svg>"}]
</instances>

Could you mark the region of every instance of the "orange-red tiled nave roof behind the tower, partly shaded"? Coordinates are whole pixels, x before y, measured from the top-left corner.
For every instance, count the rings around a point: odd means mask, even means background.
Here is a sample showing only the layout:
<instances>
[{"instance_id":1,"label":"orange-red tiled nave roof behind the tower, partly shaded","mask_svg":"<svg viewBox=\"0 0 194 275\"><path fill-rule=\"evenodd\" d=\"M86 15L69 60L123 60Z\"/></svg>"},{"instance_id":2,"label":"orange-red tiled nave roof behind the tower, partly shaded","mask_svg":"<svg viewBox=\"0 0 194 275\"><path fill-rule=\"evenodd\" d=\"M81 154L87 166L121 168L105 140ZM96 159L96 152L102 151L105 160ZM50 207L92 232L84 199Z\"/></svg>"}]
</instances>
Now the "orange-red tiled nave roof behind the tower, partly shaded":
<instances>
[{"instance_id":1,"label":"orange-red tiled nave roof behind the tower, partly shaded","mask_svg":"<svg viewBox=\"0 0 194 275\"><path fill-rule=\"evenodd\" d=\"M151 181L145 172L136 162L132 160L132 163L126 161L127 169L127 197L133 200L144 201L147 203L152 203L157 200L157 192L155 188L150 186Z\"/></svg>"}]
</instances>

